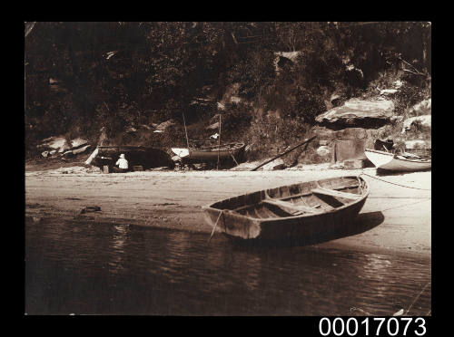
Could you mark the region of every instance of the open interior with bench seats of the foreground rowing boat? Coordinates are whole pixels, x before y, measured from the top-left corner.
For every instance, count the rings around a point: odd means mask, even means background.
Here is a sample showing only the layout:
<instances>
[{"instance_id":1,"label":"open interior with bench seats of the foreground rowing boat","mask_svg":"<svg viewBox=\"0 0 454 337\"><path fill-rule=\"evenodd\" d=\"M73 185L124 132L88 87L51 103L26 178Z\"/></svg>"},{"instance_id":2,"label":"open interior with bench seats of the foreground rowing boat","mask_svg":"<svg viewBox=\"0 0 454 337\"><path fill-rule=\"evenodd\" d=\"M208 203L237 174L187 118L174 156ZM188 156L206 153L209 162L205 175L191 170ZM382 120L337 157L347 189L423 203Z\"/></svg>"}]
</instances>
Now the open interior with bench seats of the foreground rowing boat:
<instances>
[{"instance_id":1,"label":"open interior with bench seats of the foreground rowing boat","mask_svg":"<svg viewBox=\"0 0 454 337\"><path fill-rule=\"evenodd\" d=\"M329 178L232 197L212 207L253 218L314 215L350 204L366 189L364 180L357 177Z\"/></svg>"}]
</instances>

